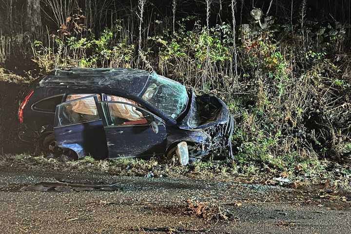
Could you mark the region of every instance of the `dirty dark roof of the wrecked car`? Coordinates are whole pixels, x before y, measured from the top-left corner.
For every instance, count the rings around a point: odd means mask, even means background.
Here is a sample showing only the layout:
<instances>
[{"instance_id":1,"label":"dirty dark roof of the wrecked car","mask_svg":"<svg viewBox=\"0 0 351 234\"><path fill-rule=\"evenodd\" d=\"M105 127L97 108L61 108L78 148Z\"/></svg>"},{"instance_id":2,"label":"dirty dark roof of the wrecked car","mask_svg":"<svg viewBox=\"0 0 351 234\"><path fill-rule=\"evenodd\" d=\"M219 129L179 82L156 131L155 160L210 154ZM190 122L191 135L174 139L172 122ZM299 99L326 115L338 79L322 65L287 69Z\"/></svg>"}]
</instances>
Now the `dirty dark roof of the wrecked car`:
<instances>
[{"instance_id":1,"label":"dirty dark roof of the wrecked car","mask_svg":"<svg viewBox=\"0 0 351 234\"><path fill-rule=\"evenodd\" d=\"M139 96L149 78L149 72L137 69L70 68L49 72L39 82L41 87L97 87L100 89L122 90Z\"/></svg>"}]
</instances>

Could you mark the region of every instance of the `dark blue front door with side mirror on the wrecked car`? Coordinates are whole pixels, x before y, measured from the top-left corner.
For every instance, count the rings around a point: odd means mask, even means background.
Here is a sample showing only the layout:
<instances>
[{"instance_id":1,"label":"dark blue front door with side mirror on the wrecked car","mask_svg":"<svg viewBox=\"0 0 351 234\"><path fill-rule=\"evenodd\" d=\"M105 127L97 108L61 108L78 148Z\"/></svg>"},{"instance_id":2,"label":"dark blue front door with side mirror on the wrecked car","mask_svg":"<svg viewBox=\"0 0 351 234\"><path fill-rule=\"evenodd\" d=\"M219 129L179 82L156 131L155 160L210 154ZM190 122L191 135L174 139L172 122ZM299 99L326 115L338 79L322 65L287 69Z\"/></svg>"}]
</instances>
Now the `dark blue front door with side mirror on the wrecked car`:
<instances>
[{"instance_id":1,"label":"dark blue front door with side mirror on the wrecked car","mask_svg":"<svg viewBox=\"0 0 351 234\"><path fill-rule=\"evenodd\" d=\"M163 155L167 133L162 119L131 100L115 100L121 101L99 102L109 158Z\"/></svg>"}]
</instances>

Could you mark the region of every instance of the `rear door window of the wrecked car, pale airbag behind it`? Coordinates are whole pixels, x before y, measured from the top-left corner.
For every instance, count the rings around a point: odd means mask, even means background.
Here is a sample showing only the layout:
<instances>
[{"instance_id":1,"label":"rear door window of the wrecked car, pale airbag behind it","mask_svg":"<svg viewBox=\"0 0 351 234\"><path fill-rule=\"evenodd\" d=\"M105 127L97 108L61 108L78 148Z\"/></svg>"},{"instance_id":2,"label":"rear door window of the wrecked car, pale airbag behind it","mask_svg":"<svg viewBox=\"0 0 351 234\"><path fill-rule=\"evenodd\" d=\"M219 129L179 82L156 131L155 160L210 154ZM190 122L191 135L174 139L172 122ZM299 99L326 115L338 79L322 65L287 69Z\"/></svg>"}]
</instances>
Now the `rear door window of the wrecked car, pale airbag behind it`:
<instances>
[{"instance_id":1,"label":"rear door window of the wrecked car, pale airbag behind it","mask_svg":"<svg viewBox=\"0 0 351 234\"><path fill-rule=\"evenodd\" d=\"M100 116L94 97L73 100L59 105L59 123L61 126L98 119L100 119Z\"/></svg>"}]
</instances>

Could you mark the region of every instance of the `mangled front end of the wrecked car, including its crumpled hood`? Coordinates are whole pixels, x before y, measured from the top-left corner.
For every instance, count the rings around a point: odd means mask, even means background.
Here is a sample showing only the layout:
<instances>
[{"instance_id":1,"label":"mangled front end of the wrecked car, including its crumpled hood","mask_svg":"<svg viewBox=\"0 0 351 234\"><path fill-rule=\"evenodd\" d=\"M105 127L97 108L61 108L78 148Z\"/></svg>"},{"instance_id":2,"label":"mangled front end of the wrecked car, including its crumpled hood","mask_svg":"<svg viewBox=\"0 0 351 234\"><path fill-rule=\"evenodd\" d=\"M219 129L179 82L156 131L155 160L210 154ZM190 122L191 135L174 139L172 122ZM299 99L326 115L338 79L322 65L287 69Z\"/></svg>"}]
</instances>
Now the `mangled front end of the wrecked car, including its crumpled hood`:
<instances>
[{"instance_id":1,"label":"mangled front end of the wrecked car, including its crumpled hood","mask_svg":"<svg viewBox=\"0 0 351 234\"><path fill-rule=\"evenodd\" d=\"M178 127L203 136L201 142L188 146L190 161L233 158L234 118L227 105L213 96L196 96L193 91L189 103L187 115Z\"/></svg>"}]
</instances>

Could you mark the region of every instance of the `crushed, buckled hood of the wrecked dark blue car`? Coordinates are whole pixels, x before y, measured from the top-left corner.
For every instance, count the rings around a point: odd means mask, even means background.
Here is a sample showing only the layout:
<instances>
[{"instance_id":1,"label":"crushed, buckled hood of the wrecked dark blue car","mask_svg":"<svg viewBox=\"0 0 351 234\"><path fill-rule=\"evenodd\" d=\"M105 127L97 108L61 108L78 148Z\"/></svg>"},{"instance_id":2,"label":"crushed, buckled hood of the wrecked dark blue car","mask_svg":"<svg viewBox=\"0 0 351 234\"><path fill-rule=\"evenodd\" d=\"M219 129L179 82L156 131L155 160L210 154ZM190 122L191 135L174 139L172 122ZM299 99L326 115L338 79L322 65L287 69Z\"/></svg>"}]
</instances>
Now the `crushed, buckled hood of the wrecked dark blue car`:
<instances>
[{"instance_id":1,"label":"crushed, buckled hood of the wrecked dark blue car","mask_svg":"<svg viewBox=\"0 0 351 234\"><path fill-rule=\"evenodd\" d=\"M228 121L227 105L219 98L210 95L196 96L192 91L189 111L180 121L179 128L184 130L206 129Z\"/></svg>"}]
</instances>

